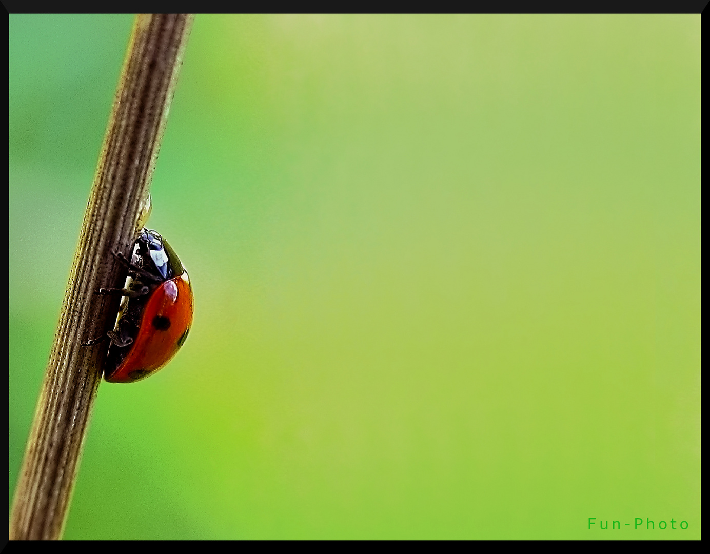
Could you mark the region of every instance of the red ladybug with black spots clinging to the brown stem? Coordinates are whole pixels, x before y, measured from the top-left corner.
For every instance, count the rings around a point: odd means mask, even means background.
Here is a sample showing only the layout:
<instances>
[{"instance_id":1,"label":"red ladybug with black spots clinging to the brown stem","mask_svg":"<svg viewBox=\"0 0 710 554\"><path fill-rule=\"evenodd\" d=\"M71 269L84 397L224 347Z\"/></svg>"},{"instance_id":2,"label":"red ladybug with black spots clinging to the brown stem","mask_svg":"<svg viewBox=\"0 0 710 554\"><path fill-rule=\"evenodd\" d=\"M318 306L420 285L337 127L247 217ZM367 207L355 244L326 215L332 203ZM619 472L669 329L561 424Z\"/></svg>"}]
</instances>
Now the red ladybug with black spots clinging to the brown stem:
<instances>
[{"instance_id":1,"label":"red ladybug with black spots clinging to the brown stem","mask_svg":"<svg viewBox=\"0 0 710 554\"><path fill-rule=\"evenodd\" d=\"M160 234L143 229L133 244L126 287L99 290L120 293L121 307L113 331L104 379L133 383L158 371L175 356L192 325L192 286L178 255Z\"/></svg>"}]
</instances>

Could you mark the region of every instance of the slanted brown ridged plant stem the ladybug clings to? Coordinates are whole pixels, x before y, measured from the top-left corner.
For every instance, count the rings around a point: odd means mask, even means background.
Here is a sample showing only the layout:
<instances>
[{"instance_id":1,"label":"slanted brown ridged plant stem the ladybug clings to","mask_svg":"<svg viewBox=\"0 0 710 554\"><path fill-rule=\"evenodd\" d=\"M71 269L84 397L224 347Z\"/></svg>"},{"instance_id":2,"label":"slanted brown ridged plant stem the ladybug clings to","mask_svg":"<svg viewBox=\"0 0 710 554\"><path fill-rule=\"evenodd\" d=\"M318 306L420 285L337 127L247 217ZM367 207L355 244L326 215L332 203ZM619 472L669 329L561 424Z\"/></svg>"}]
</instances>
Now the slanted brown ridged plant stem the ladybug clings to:
<instances>
[{"instance_id":1,"label":"slanted brown ridged plant stem the ladybug clings to","mask_svg":"<svg viewBox=\"0 0 710 554\"><path fill-rule=\"evenodd\" d=\"M119 305L96 292L124 285L126 270L111 253L128 253L140 232L192 18L148 13L133 24L15 490L11 539L62 536L109 346L84 343L113 328Z\"/></svg>"}]
</instances>

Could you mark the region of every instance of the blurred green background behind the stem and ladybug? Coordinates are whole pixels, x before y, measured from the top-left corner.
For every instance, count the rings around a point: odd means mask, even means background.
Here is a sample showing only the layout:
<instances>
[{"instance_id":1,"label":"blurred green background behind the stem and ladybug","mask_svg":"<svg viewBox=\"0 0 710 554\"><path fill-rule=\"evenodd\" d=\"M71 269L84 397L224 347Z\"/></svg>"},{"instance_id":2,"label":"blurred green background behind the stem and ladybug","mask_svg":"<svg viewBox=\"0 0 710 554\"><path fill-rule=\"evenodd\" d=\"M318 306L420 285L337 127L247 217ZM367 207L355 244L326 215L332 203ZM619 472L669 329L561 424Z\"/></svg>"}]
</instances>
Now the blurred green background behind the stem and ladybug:
<instances>
[{"instance_id":1,"label":"blurred green background behind the stem and ladybug","mask_svg":"<svg viewBox=\"0 0 710 554\"><path fill-rule=\"evenodd\" d=\"M10 16L10 499L132 20ZM65 538L699 538L699 15L197 16L152 195Z\"/></svg>"}]
</instances>

